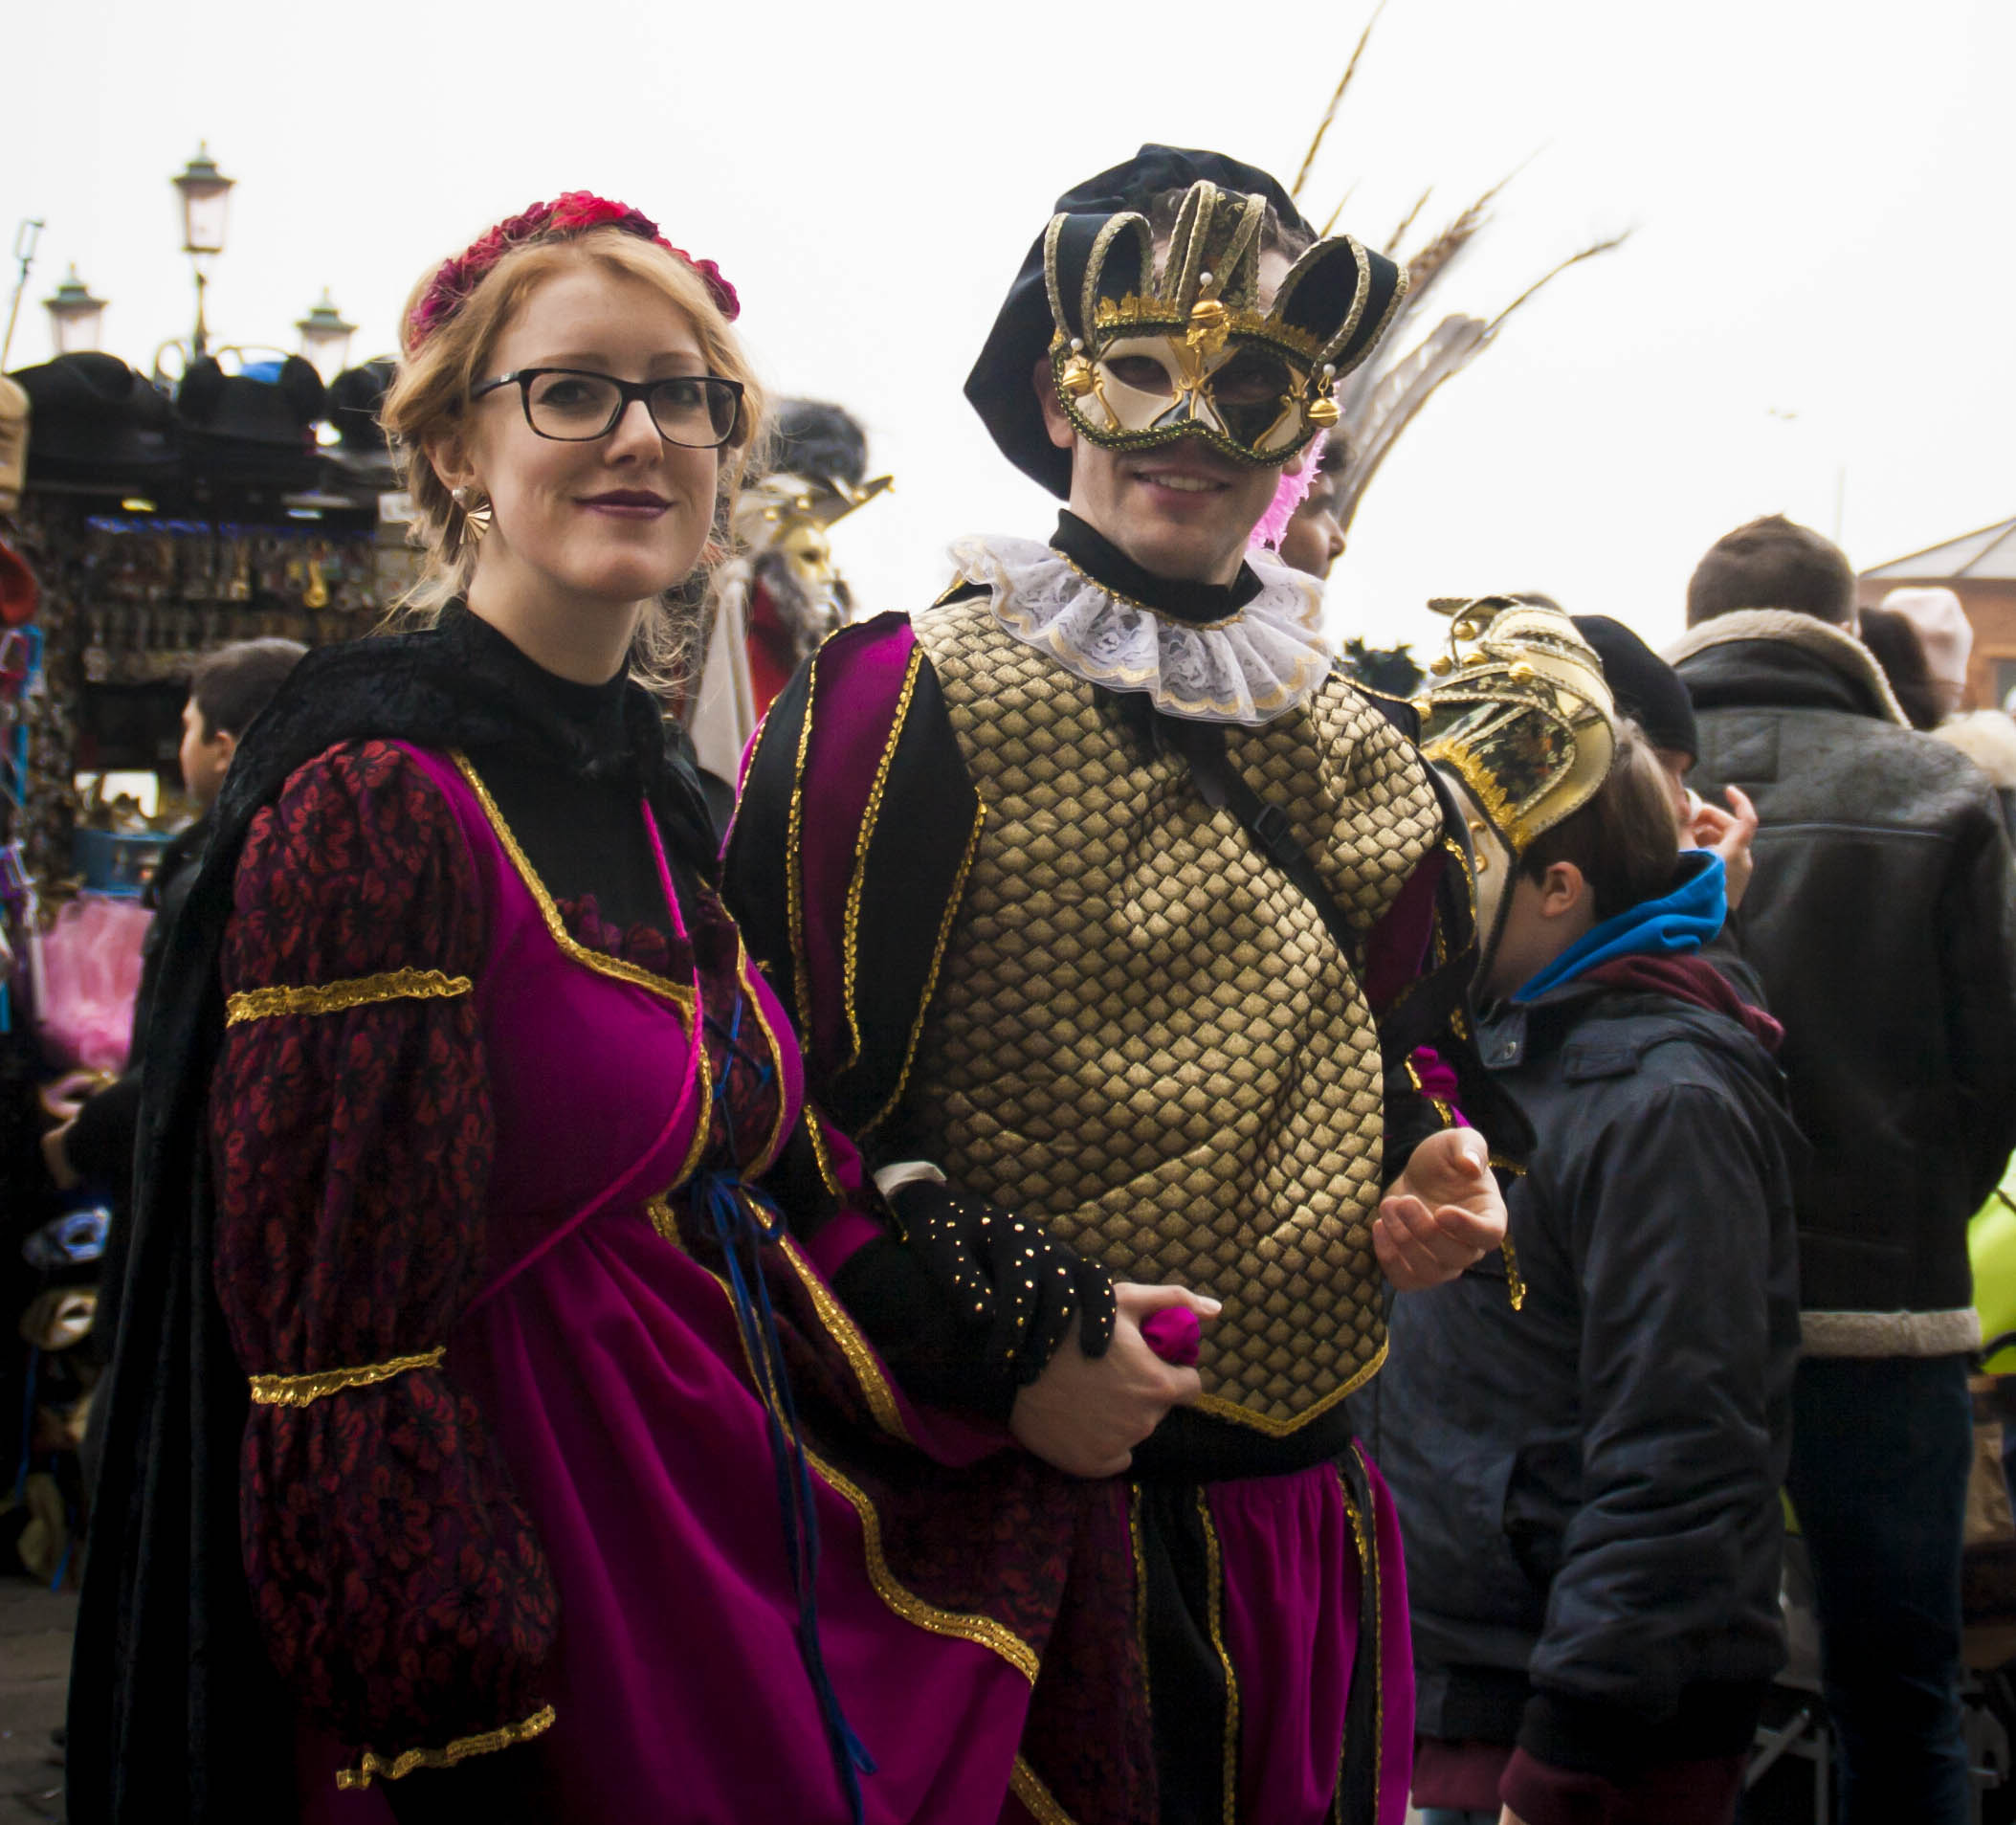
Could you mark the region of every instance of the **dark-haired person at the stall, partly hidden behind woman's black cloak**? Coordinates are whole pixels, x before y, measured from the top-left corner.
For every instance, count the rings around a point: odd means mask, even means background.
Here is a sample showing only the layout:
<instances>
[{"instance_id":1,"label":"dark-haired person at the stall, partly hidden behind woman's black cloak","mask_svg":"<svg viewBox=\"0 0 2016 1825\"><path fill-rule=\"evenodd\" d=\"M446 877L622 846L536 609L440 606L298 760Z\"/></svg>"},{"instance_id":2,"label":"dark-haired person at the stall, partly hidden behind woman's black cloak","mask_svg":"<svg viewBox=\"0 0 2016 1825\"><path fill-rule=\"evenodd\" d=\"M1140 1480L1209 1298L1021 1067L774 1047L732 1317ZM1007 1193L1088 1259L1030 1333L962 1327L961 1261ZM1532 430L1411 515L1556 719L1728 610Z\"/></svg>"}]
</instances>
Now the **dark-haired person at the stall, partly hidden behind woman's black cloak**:
<instances>
[{"instance_id":1,"label":"dark-haired person at the stall, partly hidden behind woman's black cloak","mask_svg":"<svg viewBox=\"0 0 2016 1825\"><path fill-rule=\"evenodd\" d=\"M161 851L143 903L153 922L141 940L139 994L133 1000L133 1043L125 1075L91 1095L95 1079L65 1079L50 1091L50 1107L75 1113L42 1135L42 1160L58 1190L79 1184L111 1198L113 1222L105 1238L95 1333L111 1347L119 1323L119 1293L125 1270L125 1226L133 1188L133 1141L139 1121L141 1055L147 1041L147 1012L153 1006L161 944L181 901L196 881L210 835L210 807L224 790L224 772L252 718L308 649L296 639L242 639L208 653L190 680L190 700L181 706L181 784L196 801L196 819ZM62 1095L69 1091L69 1095Z\"/></svg>"}]
</instances>

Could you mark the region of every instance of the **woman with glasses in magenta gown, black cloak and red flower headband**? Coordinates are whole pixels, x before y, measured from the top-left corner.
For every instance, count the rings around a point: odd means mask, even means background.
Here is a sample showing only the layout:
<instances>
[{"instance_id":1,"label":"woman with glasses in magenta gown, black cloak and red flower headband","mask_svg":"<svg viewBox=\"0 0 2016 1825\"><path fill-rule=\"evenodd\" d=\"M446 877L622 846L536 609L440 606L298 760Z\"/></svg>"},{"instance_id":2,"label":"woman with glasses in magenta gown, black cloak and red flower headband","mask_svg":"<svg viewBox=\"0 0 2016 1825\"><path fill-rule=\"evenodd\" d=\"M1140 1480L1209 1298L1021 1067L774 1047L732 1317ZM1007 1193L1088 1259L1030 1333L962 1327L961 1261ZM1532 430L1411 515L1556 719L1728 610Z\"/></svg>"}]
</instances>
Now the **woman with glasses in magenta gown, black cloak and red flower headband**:
<instances>
[{"instance_id":1,"label":"woman with glasses in magenta gown, black cloak and red flower headband","mask_svg":"<svg viewBox=\"0 0 2016 1825\"><path fill-rule=\"evenodd\" d=\"M439 609L254 726L163 966L75 1825L964 1825L1131 1601L1125 1523L913 1408L816 1266L883 1244L956 1377L639 684L760 421L734 315L583 194L407 309Z\"/></svg>"}]
</instances>

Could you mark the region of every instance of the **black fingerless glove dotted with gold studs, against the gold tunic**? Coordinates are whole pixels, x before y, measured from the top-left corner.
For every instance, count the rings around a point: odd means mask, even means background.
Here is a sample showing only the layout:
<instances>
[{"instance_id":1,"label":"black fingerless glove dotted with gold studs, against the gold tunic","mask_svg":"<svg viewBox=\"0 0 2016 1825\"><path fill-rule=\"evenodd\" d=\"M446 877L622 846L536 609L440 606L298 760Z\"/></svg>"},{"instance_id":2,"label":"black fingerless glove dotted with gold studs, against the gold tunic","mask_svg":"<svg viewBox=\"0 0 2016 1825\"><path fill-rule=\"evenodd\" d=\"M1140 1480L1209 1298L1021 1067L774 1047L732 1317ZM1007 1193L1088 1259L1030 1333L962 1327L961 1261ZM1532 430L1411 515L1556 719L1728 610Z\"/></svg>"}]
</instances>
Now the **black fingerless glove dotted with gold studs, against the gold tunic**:
<instances>
[{"instance_id":1,"label":"black fingerless glove dotted with gold studs, against the gold tunic","mask_svg":"<svg viewBox=\"0 0 2016 1825\"><path fill-rule=\"evenodd\" d=\"M964 1325L986 1325L984 1361L1028 1385L1079 1321L1079 1347L1113 1341L1113 1276L1042 1224L948 1186L909 1180L885 1200Z\"/></svg>"}]
</instances>

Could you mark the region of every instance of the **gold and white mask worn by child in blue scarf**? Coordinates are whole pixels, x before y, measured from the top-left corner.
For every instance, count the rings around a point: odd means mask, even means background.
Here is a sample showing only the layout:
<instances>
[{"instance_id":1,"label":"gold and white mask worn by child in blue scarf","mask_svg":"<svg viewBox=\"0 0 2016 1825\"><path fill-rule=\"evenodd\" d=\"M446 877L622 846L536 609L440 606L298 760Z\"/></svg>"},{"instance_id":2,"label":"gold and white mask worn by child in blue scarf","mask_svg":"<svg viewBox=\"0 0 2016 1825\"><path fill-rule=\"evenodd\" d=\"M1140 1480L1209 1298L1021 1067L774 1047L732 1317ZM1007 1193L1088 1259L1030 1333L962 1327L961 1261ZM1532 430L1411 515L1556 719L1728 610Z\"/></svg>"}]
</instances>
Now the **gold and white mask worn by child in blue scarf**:
<instances>
[{"instance_id":1,"label":"gold and white mask worn by child in blue scarf","mask_svg":"<svg viewBox=\"0 0 2016 1825\"><path fill-rule=\"evenodd\" d=\"M1560 609L1506 595L1429 607L1452 617L1452 657L1433 663L1435 682L1415 698L1421 752L1470 788L1520 857L1611 770L1617 708L1603 661Z\"/></svg>"}]
</instances>

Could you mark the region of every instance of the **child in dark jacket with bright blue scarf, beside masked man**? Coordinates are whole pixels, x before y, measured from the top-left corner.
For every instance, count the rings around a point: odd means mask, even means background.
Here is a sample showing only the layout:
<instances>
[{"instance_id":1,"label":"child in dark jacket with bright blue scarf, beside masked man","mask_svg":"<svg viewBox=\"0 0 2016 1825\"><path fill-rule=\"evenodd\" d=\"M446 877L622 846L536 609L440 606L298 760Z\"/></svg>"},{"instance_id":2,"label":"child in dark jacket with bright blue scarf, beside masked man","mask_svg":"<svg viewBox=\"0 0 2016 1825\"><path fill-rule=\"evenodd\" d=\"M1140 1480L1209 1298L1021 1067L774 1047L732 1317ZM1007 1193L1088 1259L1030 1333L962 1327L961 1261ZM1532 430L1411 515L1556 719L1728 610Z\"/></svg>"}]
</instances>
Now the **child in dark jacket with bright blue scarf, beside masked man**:
<instances>
[{"instance_id":1,"label":"child in dark jacket with bright blue scarf, beside masked man","mask_svg":"<svg viewBox=\"0 0 2016 1825\"><path fill-rule=\"evenodd\" d=\"M1581 809L1492 831L1510 891L1478 1039L1536 1131L1512 1250L1401 1297L1377 1383L1429 1821L1726 1825L1784 1660L1780 1032L1699 956L1722 859L1679 851L1655 756L1605 722Z\"/></svg>"}]
</instances>

